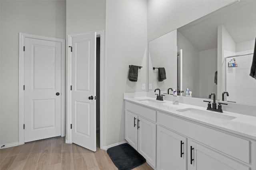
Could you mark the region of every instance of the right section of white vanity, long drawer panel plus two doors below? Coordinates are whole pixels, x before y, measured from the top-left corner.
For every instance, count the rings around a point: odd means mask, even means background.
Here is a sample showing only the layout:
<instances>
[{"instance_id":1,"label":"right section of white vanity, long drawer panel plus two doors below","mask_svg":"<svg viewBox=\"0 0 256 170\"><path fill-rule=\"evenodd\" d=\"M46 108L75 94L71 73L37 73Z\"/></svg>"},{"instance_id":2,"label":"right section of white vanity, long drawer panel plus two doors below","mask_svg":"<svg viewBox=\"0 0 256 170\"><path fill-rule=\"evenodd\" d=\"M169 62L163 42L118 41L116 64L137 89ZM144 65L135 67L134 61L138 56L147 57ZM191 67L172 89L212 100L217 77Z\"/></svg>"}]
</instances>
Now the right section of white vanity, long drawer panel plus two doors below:
<instances>
[{"instance_id":1,"label":"right section of white vanity, long drawer panel plus two doors below","mask_svg":"<svg viewBox=\"0 0 256 170\"><path fill-rule=\"evenodd\" d=\"M186 164L188 170L250 170L250 167L255 170L254 141L161 112L157 113L157 120L158 170L168 167L186 170ZM181 152L179 141L185 141L182 148L184 160L178 159Z\"/></svg>"}]
</instances>

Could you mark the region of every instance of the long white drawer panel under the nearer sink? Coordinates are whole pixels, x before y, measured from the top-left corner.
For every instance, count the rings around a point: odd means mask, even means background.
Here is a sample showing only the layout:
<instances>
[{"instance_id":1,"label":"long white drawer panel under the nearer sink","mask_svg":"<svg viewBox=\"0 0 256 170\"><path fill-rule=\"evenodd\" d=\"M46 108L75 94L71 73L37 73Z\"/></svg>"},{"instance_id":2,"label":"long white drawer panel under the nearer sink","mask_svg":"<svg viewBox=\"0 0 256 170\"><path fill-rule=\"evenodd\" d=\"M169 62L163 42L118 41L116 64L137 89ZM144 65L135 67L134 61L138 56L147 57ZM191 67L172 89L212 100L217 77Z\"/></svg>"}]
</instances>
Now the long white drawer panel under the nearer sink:
<instances>
[{"instance_id":1,"label":"long white drawer panel under the nearer sink","mask_svg":"<svg viewBox=\"0 0 256 170\"><path fill-rule=\"evenodd\" d=\"M157 120L162 126L250 164L249 140L160 112L157 114Z\"/></svg>"}]
</instances>

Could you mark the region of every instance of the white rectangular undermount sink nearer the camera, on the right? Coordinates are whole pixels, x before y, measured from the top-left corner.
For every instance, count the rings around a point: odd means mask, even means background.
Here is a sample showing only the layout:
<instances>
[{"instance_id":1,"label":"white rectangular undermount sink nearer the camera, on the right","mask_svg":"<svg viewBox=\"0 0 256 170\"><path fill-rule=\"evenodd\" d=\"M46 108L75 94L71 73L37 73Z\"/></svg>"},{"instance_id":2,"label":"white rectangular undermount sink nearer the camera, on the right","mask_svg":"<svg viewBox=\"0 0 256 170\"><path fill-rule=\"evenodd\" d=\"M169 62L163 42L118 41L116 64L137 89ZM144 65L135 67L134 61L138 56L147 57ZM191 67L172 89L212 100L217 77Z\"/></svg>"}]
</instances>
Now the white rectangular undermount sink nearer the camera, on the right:
<instances>
[{"instance_id":1,"label":"white rectangular undermount sink nearer the camera, on the right","mask_svg":"<svg viewBox=\"0 0 256 170\"><path fill-rule=\"evenodd\" d=\"M179 109L182 115L188 116L191 118L201 119L204 121L230 121L235 119L236 117L230 115L224 115L223 113L215 113L213 111L208 110L200 110L194 108L186 108L186 109Z\"/></svg>"}]
</instances>

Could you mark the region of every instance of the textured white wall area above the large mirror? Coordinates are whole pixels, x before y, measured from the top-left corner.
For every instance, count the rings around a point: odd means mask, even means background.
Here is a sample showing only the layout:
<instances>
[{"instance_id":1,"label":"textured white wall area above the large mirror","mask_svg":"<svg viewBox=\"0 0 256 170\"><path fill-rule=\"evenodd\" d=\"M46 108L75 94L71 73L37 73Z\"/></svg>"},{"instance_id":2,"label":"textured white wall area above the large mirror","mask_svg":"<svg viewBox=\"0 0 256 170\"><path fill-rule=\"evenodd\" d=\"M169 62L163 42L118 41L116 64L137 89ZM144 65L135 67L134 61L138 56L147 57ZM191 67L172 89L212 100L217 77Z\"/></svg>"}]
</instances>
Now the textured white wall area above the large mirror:
<instances>
[{"instance_id":1,"label":"textured white wall area above the large mirror","mask_svg":"<svg viewBox=\"0 0 256 170\"><path fill-rule=\"evenodd\" d=\"M148 41L235 0L148 0Z\"/></svg>"}]
</instances>

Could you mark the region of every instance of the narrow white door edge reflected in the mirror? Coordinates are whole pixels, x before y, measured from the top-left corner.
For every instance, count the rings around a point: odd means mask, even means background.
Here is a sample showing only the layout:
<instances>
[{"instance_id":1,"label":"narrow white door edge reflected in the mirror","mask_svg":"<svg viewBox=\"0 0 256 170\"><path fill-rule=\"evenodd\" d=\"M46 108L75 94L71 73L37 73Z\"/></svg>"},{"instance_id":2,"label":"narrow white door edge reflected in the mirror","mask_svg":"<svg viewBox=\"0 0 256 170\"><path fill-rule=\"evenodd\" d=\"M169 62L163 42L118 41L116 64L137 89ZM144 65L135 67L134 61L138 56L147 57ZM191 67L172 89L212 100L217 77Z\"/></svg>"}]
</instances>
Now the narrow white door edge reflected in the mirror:
<instances>
[{"instance_id":1,"label":"narrow white door edge reflected in the mirror","mask_svg":"<svg viewBox=\"0 0 256 170\"><path fill-rule=\"evenodd\" d=\"M180 93L180 91L182 91L182 49L180 49L178 51L178 55L177 55L177 58L178 58L178 80L177 80L177 91L178 91L178 95L182 96L182 93ZM184 90L183 90L184 91ZM186 93L185 93L186 94Z\"/></svg>"}]
</instances>

